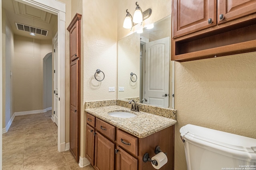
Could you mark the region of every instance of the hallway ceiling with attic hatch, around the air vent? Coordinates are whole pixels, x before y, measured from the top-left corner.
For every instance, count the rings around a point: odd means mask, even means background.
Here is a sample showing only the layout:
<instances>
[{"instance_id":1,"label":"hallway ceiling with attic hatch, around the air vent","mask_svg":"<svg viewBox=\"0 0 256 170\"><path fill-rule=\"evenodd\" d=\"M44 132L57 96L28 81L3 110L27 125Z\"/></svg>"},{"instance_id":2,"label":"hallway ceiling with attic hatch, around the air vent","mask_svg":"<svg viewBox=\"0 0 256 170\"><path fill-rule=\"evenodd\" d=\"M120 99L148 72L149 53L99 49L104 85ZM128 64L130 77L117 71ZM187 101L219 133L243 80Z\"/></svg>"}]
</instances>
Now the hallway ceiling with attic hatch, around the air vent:
<instances>
[{"instance_id":1,"label":"hallway ceiling with attic hatch, around the air vent","mask_svg":"<svg viewBox=\"0 0 256 170\"><path fill-rule=\"evenodd\" d=\"M6 11L7 20L10 22L15 35L35 39L52 39L53 30L57 30L58 16L49 12L22 4L15 0L2 0L2 8ZM16 29L16 23L37 27L49 31L47 36L36 34L32 36L29 32Z\"/></svg>"}]
</instances>

